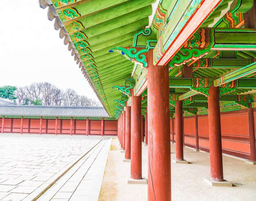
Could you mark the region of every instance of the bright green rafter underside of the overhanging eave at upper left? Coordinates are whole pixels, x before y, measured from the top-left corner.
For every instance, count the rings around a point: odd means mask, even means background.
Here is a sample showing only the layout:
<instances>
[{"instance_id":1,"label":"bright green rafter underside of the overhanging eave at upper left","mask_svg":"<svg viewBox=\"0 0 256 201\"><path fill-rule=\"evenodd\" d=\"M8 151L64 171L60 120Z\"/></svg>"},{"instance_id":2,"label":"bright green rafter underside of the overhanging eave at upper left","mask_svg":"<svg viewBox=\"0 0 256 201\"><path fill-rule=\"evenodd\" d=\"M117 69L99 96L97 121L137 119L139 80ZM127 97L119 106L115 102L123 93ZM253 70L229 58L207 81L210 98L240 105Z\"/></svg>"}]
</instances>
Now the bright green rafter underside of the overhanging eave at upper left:
<instances>
[{"instance_id":1,"label":"bright green rafter underside of the overhanging eave at upper left","mask_svg":"<svg viewBox=\"0 0 256 201\"><path fill-rule=\"evenodd\" d=\"M66 34L65 44L73 43L72 54L78 60L81 58L81 70L110 117L114 117L115 106L118 105L114 100L120 99L122 93L112 87L124 85L124 80L131 76L134 64L123 56L108 53L108 50L117 46L132 46L135 33L148 26L151 4L155 0L52 2L65 28L60 35L63 37L63 33Z\"/></svg>"}]
</instances>

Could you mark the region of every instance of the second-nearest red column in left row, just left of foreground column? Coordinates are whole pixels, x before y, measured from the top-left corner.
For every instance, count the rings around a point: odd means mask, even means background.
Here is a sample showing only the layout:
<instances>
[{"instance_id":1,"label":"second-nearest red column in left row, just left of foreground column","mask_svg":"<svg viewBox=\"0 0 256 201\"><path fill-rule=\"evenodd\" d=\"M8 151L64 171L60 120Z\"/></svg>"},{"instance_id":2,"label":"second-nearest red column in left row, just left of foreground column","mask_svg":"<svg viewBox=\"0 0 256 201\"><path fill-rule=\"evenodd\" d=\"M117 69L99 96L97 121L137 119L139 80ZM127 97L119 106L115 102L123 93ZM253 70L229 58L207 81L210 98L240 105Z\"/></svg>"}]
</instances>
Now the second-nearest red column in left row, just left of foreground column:
<instances>
[{"instance_id":1,"label":"second-nearest red column in left row, just left of foreground column","mask_svg":"<svg viewBox=\"0 0 256 201\"><path fill-rule=\"evenodd\" d=\"M141 96L131 89L131 178L142 178L141 155Z\"/></svg>"}]
</instances>

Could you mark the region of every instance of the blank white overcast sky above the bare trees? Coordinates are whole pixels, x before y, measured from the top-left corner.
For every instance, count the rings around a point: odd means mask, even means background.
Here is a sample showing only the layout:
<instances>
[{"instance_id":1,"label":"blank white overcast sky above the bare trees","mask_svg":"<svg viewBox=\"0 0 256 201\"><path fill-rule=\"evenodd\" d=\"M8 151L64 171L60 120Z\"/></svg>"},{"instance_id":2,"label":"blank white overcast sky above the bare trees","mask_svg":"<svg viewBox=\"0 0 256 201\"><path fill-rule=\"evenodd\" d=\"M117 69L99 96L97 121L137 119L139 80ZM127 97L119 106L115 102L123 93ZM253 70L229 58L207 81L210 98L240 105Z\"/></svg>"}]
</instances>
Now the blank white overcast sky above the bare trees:
<instances>
[{"instance_id":1,"label":"blank white overcast sky above the bare trees","mask_svg":"<svg viewBox=\"0 0 256 201\"><path fill-rule=\"evenodd\" d=\"M1 1L0 86L50 82L97 99L38 0Z\"/></svg>"}]
</instances>

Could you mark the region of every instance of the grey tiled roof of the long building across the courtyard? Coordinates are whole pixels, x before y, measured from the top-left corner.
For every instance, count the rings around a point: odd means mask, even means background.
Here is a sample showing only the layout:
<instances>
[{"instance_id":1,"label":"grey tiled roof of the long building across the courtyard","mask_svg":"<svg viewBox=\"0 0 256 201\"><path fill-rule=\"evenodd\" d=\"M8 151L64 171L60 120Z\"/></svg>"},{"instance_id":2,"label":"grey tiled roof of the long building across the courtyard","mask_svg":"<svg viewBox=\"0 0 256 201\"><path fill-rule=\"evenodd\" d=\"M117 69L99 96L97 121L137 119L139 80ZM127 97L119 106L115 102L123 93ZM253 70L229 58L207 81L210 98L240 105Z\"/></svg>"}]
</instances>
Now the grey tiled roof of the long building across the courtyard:
<instances>
[{"instance_id":1,"label":"grey tiled roof of the long building across the courtyard","mask_svg":"<svg viewBox=\"0 0 256 201\"><path fill-rule=\"evenodd\" d=\"M1 116L107 118L103 107L0 105Z\"/></svg>"}]
</instances>

